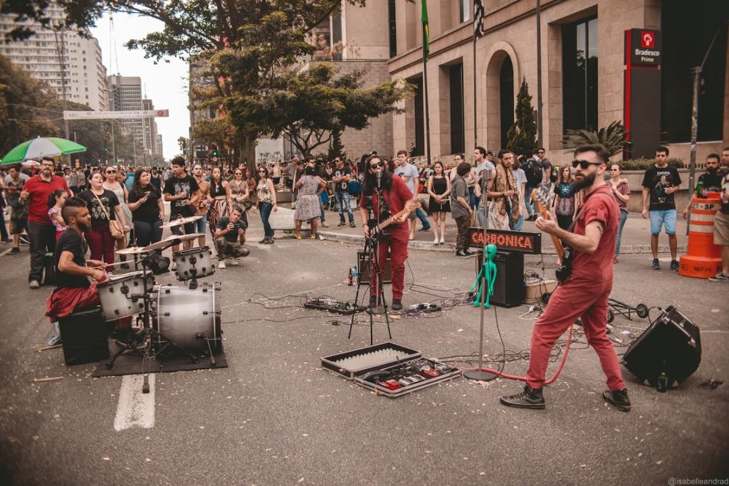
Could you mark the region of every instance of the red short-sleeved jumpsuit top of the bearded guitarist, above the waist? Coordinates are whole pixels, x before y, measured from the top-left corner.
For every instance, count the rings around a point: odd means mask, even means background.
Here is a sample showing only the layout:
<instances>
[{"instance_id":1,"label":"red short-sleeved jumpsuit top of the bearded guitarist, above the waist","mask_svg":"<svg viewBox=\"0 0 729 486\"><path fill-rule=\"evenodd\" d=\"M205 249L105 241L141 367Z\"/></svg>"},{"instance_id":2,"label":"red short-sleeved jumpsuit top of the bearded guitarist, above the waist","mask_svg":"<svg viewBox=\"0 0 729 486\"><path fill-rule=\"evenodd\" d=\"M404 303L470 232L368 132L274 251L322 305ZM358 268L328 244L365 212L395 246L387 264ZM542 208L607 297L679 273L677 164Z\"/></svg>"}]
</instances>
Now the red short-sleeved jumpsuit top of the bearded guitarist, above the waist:
<instances>
[{"instance_id":1,"label":"red short-sleeved jumpsuit top of the bearded guitarist, above the waist","mask_svg":"<svg viewBox=\"0 0 729 486\"><path fill-rule=\"evenodd\" d=\"M594 283L612 282L612 256L615 254L615 236L617 223L620 219L620 210L607 184L598 187L585 197L577 221L574 222L573 232L584 235L585 227L593 221L602 222L604 230L593 254L574 250L572 256L571 279Z\"/></svg>"}]
</instances>

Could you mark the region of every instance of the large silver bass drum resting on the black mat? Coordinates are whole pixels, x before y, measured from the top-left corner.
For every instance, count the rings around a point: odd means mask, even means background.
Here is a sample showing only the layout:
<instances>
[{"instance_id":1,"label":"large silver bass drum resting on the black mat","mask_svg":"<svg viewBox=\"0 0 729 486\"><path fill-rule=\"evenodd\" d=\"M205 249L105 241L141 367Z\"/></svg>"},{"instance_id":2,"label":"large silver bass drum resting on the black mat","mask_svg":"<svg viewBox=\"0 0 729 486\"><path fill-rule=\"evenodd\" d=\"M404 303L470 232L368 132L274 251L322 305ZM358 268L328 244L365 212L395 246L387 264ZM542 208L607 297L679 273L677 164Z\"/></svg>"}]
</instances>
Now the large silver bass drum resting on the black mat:
<instances>
[{"instance_id":1,"label":"large silver bass drum resting on the black mat","mask_svg":"<svg viewBox=\"0 0 729 486\"><path fill-rule=\"evenodd\" d=\"M191 353L213 354L222 349L220 336L220 283L202 283L197 289L170 285L155 288L153 326L164 338ZM165 339L157 340L162 345ZM174 350L174 348L168 348Z\"/></svg>"}]
</instances>

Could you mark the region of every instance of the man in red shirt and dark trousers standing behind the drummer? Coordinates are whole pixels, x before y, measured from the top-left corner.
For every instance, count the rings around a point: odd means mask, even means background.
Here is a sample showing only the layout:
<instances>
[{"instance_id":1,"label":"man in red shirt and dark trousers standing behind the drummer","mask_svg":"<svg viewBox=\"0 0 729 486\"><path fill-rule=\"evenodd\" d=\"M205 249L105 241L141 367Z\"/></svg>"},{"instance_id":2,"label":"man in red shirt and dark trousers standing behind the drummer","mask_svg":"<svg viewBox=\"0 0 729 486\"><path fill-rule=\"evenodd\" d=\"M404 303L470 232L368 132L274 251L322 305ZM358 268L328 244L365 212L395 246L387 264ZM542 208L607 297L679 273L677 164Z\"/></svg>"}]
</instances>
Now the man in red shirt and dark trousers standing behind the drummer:
<instances>
[{"instance_id":1,"label":"man in red shirt and dark trousers standing behind the drummer","mask_svg":"<svg viewBox=\"0 0 729 486\"><path fill-rule=\"evenodd\" d=\"M28 286L39 289L43 281L43 259L55 248L55 227L48 216L48 196L56 189L69 192L63 177L54 176L55 162L52 157L43 157L40 170L23 184L20 198L28 204L28 238L31 240L31 270Z\"/></svg>"}]
</instances>

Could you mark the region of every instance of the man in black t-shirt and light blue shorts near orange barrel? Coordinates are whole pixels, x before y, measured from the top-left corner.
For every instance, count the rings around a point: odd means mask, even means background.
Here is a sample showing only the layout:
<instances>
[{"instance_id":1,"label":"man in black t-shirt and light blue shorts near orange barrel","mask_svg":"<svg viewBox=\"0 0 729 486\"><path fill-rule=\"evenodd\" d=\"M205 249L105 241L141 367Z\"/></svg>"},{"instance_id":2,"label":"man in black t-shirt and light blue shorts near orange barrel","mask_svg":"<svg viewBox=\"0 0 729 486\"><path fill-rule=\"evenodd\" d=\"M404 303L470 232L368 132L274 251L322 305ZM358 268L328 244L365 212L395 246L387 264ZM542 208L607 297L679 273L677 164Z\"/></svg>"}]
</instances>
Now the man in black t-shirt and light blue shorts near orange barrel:
<instances>
[{"instance_id":1,"label":"man in black t-shirt and light blue shorts near orange barrel","mask_svg":"<svg viewBox=\"0 0 729 486\"><path fill-rule=\"evenodd\" d=\"M643 217L650 216L650 249L653 252L653 270L660 270L658 263L658 233L665 225L668 247L671 249L671 270L679 271L676 259L678 239L676 238L676 203L674 193L678 192L681 178L677 168L668 165L668 149L655 149L655 165L643 176ZM650 206L648 205L650 195Z\"/></svg>"}]
</instances>

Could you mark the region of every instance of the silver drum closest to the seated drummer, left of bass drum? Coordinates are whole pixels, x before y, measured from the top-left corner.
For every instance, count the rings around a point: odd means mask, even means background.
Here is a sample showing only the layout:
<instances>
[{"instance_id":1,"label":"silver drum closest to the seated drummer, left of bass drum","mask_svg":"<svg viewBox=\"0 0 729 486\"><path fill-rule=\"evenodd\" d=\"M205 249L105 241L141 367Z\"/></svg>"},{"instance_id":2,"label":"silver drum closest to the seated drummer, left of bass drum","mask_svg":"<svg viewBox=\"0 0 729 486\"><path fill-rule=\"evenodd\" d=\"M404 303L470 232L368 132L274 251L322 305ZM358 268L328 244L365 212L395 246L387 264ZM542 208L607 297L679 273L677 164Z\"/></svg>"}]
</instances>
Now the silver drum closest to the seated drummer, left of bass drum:
<instances>
[{"instance_id":1,"label":"silver drum closest to the seated drummer, left of bass drum","mask_svg":"<svg viewBox=\"0 0 729 486\"><path fill-rule=\"evenodd\" d=\"M127 272L112 275L109 280L96 286L98 298L101 300L101 310L104 310L106 321L116 321L129 317L144 310L144 299L139 298L132 302L132 295L144 294L144 272ZM147 289L155 286L155 275L147 275Z\"/></svg>"}]
</instances>

